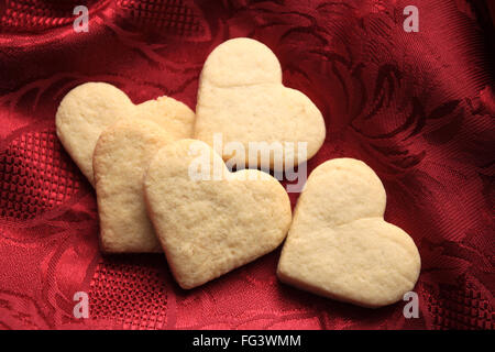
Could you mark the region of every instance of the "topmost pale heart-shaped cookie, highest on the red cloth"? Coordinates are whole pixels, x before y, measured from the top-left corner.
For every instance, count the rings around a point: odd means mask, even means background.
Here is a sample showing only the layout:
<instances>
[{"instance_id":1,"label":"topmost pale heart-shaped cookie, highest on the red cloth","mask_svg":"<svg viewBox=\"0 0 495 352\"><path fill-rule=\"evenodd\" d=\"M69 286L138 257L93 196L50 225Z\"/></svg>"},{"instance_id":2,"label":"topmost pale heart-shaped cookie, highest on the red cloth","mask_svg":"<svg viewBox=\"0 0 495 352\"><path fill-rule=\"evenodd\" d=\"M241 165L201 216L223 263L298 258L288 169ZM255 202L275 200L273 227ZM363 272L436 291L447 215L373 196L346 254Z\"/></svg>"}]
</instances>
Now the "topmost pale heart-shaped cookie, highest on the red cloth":
<instances>
[{"instance_id":1,"label":"topmost pale heart-shaped cookie, highest on the red cloth","mask_svg":"<svg viewBox=\"0 0 495 352\"><path fill-rule=\"evenodd\" d=\"M199 81L196 117L196 139L213 146L217 134L223 145L243 145L245 153L215 145L224 161L242 166L257 163L278 168L274 167L277 162L273 152L277 145L284 148L284 164L297 165L318 152L326 135L321 112L311 100L283 86L275 54L245 37L227 41L208 56ZM266 143L270 158L260 156L258 145L253 145L256 142Z\"/></svg>"}]
</instances>

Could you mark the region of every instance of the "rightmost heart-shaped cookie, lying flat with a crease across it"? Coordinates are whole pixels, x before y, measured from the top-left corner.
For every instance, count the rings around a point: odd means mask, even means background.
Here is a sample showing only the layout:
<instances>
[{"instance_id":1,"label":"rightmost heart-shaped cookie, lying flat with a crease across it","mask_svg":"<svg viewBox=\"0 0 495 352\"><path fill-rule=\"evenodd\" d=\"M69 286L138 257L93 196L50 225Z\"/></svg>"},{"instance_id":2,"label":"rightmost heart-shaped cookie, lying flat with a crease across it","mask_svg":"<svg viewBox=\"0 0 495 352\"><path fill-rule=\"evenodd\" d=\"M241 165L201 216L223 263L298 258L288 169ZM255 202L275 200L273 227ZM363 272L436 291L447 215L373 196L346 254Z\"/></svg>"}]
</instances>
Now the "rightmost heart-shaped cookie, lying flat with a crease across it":
<instances>
[{"instance_id":1,"label":"rightmost heart-shaped cookie, lying flat with a crease across it","mask_svg":"<svg viewBox=\"0 0 495 352\"><path fill-rule=\"evenodd\" d=\"M364 163L337 158L309 176L277 275L289 285L364 307L403 299L418 279L411 238L383 219L385 189Z\"/></svg>"}]
</instances>

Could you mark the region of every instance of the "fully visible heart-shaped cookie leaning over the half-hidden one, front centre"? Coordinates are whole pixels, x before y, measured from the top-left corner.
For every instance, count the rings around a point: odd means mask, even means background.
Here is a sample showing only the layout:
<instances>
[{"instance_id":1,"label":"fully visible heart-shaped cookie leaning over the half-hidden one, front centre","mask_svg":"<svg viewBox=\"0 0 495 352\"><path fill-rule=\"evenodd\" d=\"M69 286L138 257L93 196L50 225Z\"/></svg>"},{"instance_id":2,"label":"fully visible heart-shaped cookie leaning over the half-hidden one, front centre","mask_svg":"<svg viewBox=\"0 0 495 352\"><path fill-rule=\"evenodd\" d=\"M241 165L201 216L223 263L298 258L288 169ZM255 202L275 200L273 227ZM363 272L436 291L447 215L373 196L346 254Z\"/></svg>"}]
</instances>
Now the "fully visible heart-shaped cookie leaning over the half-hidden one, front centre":
<instances>
[{"instance_id":1,"label":"fully visible heart-shaped cookie leaning over the half-hidden one, front centre","mask_svg":"<svg viewBox=\"0 0 495 352\"><path fill-rule=\"evenodd\" d=\"M205 284L273 251L292 220L284 187L257 169L230 173L206 143L165 145L150 164L145 199L172 273Z\"/></svg>"}]
</instances>

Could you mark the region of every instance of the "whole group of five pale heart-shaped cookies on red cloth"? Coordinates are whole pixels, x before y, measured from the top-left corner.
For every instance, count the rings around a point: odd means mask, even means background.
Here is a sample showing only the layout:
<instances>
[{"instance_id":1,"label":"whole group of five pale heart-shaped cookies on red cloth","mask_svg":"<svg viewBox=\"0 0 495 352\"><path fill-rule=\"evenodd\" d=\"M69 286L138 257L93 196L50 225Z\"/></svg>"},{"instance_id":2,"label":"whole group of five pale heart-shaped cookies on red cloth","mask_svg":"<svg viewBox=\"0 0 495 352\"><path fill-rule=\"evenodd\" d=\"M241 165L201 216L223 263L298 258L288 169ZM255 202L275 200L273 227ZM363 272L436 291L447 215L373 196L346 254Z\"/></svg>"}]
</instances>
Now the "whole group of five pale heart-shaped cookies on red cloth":
<instances>
[{"instance_id":1,"label":"whole group of five pale heart-shaped cookies on red cloth","mask_svg":"<svg viewBox=\"0 0 495 352\"><path fill-rule=\"evenodd\" d=\"M183 288L272 252L287 233L277 270L287 284L365 307L393 304L416 284L418 250L384 221L385 190L364 163L318 166L294 219L284 187L258 169L306 162L326 135L318 108L282 85L278 59L260 42L230 40L209 55L196 116L173 98L135 106L89 82L63 99L56 129L96 188L102 251L164 251ZM240 147L213 148L216 135ZM304 153L262 158L252 142Z\"/></svg>"}]
</instances>

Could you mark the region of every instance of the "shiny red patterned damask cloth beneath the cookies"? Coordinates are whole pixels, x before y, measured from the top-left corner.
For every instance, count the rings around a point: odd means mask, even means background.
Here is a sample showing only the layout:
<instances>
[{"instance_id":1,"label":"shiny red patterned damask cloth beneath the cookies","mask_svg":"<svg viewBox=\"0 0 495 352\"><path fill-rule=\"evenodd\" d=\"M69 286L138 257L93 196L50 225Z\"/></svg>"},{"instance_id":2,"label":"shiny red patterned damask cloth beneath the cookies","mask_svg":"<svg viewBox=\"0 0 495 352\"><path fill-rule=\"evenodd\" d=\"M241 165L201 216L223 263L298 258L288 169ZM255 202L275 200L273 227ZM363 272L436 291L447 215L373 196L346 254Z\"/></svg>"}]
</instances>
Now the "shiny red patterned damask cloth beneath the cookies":
<instances>
[{"instance_id":1,"label":"shiny red patterned damask cloth beneath the cookies","mask_svg":"<svg viewBox=\"0 0 495 352\"><path fill-rule=\"evenodd\" d=\"M88 33L73 30L81 2ZM494 33L465 0L0 3L0 328L494 328ZM419 33L403 30L408 4ZM405 302L369 310L285 286L279 251L191 292L163 255L99 253L95 193L55 135L58 102L107 81L134 102L195 108L205 58L235 36L267 44L285 85L322 111L309 170L350 156L384 182L386 219L421 254L418 319ZM89 319L73 317L76 292Z\"/></svg>"}]
</instances>

